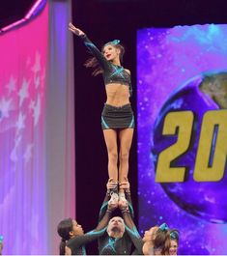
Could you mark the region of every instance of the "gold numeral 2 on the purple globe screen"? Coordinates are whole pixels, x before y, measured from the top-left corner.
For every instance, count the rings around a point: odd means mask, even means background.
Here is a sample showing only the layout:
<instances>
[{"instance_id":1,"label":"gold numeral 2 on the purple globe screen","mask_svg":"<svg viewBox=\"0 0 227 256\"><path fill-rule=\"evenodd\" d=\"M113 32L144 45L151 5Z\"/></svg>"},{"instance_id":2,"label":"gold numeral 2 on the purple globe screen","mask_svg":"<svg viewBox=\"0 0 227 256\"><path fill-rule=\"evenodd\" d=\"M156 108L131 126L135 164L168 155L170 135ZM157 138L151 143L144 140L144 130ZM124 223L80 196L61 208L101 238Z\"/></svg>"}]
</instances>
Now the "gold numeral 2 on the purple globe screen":
<instances>
[{"instance_id":1,"label":"gold numeral 2 on the purple globe screen","mask_svg":"<svg viewBox=\"0 0 227 256\"><path fill-rule=\"evenodd\" d=\"M184 154L188 149L193 126L191 111L170 112L164 121L163 135L174 135L178 130L178 140L162 151L157 159L156 182L184 182L185 167L170 167L170 162Z\"/></svg>"}]
</instances>

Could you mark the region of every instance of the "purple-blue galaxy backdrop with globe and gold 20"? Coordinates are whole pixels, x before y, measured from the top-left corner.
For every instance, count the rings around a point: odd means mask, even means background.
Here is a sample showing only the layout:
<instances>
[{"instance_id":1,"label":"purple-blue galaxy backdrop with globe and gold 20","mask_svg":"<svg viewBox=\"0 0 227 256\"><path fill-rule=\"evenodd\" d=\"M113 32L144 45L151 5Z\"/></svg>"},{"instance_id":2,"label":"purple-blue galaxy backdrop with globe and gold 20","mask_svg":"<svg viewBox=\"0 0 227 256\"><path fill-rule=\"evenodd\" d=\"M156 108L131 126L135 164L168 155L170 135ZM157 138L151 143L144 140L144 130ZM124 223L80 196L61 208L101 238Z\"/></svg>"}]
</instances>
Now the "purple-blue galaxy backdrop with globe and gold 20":
<instances>
[{"instance_id":1,"label":"purple-blue galaxy backdrop with globe and gold 20","mask_svg":"<svg viewBox=\"0 0 227 256\"><path fill-rule=\"evenodd\" d=\"M139 230L166 222L179 254L227 251L227 26L137 33Z\"/></svg>"}]
</instances>

